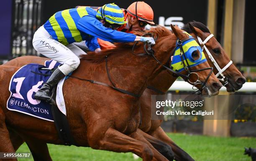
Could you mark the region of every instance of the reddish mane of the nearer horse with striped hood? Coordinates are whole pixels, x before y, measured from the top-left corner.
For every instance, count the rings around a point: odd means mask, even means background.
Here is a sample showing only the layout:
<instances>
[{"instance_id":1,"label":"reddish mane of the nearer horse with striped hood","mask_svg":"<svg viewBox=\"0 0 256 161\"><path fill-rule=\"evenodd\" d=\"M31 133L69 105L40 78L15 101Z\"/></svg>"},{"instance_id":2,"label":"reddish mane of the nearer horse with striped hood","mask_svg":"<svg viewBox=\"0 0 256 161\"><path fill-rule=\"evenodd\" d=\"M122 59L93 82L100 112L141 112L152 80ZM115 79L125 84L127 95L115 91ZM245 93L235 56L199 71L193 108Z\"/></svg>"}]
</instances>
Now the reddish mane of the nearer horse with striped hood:
<instances>
[{"instance_id":1,"label":"reddish mane of the nearer horse with striped hood","mask_svg":"<svg viewBox=\"0 0 256 161\"><path fill-rule=\"evenodd\" d=\"M143 32L134 32L134 34L138 36L142 36L146 33L153 34L154 37L157 37L157 39L163 36L168 36L173 34L170 30L162 26L151 28L151 30L146 30ZM141 45L141 43L142 42L137 43L136 46ZM88 52L86 55L82 55L81 59L90 60L92 62L101 62L102 60L104 60L106 56L110 54L120 54L120 52L122 52L123 50L131 49L133 44L134 42L115 43L116 47L114 49L102 50L100 53Z\"/></svg>"}]
</instances>

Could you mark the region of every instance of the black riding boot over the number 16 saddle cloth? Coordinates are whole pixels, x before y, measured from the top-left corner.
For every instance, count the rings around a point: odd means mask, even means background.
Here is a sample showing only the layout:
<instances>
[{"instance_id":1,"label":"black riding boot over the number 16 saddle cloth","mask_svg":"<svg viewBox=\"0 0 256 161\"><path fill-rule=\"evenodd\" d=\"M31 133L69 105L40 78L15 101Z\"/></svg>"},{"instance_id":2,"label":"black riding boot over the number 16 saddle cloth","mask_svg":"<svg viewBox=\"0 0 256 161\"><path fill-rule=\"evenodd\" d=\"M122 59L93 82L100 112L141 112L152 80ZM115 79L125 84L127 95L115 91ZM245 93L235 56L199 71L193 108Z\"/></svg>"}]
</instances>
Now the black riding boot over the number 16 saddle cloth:
<instances>
[{"instance_id":1,"label":"black riding boot over the number 16 saddle cloth","mask_svg":"<svg viewBox=\"0 0 256 161\"><path fill-rule=\"evenodd\" d=\"M51 77L48 79L46 83L43 84L41 89L39 89L35 94L35 99L42 101L49 101L51 99L51 89L58 84L58 82L65 77L59 68L55 69L55 71L51 74Z\"/></svg>"}]
</instances>

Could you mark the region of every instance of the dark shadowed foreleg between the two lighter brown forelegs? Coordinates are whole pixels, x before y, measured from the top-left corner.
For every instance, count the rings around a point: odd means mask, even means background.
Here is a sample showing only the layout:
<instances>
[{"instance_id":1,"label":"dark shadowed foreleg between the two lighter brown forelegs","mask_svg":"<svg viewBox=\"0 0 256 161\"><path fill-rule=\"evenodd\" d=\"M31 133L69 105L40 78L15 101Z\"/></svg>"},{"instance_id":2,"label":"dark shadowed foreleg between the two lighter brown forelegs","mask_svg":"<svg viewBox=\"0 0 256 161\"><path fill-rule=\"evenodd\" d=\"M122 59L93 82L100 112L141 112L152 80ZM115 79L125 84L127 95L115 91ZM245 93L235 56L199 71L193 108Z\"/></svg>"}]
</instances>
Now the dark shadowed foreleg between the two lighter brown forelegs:
<instances>
[{"instance_id":1,"label":"dark shadowed foreleg between the two lighter brown forelegs","mask_svg":"<svg viewBox=\"0 0 256 161\"><path fill-rule=\"evenodd\" d=\"M152 145L154 148L159 151L163 156L165 156L169 161L174 160L174 152L172 151L172 147L168 144L156 139L155 137L146 134L145 132L141 131L141 134L144 138Z\"/></svg>"}]
</instances>

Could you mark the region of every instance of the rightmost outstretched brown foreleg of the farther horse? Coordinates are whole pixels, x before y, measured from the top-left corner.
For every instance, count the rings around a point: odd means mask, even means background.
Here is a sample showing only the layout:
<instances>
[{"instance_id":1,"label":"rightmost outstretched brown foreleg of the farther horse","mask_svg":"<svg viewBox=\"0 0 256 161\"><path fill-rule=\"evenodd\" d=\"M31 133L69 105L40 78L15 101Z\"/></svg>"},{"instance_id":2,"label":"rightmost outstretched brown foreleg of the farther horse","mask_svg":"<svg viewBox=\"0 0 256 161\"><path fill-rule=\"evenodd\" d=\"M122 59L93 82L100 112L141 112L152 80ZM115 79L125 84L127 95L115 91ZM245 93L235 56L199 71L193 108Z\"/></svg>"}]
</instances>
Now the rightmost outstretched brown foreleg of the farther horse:
<instances>
[{"instance_id":1,"label":"rightmost outstretched brown foreleg of the farther horse","mask_svg":"<svg viewBox=\"0 0 256 161\"><path fill-rule=\"evenodd\" d=\"M163 141L166 144L169 144L174 151L174 159L176 161L195 161L192 159L189 154L187 154L184 150L182 150L179 146L177 146L164 132L164 130L159 127L157 128L151 136L154 136L156 139Z\"/></svg>"}]
</instances>

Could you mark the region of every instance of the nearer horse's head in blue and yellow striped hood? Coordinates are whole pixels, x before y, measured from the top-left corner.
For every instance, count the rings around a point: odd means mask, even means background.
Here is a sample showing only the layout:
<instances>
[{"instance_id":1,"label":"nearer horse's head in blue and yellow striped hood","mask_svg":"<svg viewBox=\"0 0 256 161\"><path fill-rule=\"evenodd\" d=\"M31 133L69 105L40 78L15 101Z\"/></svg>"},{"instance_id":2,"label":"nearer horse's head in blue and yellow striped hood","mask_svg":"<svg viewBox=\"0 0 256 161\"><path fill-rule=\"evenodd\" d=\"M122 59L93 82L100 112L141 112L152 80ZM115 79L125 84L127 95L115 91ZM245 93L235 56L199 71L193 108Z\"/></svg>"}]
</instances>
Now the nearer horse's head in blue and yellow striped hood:
<instances>
[{"instance_id":1,"label":"nearer horse's head in blue and yellow striped hood","mask_svg":"<svg viewBox=\"0 0 256 161\"><path fill-rule=\"evenodd\" d=\"M175 74L200 89L203 95L217 95L222 84L212 73L212 67L208 64L200 46L192 36L179 29L179 27L172 25L171 27L178 38L171 68L183 74L183 76Z\"/></svg>"}]
</instances>

